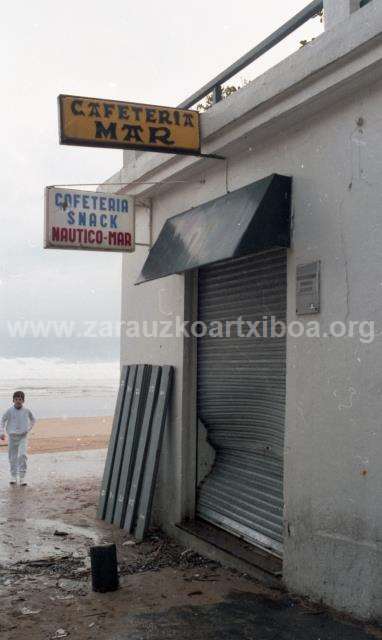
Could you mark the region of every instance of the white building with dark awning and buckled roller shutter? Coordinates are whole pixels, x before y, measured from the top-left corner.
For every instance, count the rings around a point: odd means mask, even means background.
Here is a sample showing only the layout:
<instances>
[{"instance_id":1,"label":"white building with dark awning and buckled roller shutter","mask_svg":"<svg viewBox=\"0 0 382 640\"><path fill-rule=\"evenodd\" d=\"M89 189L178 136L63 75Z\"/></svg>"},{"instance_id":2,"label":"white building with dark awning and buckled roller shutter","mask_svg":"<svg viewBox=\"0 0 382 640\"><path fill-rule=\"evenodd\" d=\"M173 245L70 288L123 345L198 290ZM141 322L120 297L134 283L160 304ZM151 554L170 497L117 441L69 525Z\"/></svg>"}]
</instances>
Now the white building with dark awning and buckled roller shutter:
<instances>
[{"instance_id":1,"label":"white building with dark awning and buckled roller shutter","mask_svg":"<svg viewBox=\"0 0 382 640\"><path fill-rule=\"evenodd\" d=\"M201 116L226 160L125 152L110 182L142 182L138 242L162 232L122 285L123 320L148 322L122 362L176 371L156 523L264 578L282 557L291 591L381 619L382 3L363 4L327 0L320 37ZM147 337L264 315L293 335Z\"/></svg>"}]
</instances>

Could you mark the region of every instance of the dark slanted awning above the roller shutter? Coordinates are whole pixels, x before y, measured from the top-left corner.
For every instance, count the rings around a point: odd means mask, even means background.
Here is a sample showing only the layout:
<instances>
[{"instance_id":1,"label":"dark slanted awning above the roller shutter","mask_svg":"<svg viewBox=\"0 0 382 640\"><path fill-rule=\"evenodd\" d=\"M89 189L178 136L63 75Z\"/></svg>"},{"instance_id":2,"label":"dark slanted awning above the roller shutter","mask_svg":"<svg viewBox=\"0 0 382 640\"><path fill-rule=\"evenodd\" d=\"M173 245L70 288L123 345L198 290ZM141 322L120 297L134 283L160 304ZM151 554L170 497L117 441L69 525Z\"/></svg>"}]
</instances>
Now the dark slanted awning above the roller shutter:
<instances>
[{"instance_id":1,"label":"dark slanted awning above the roller shutter","mask_svg":"<svg viewBox=\"0 0 382 640\"><path fill-rule=\"evenodd\" d=\"M273 174L169 218L136 284L290 246L292 179Z\"/></svg>"}]
</instances>

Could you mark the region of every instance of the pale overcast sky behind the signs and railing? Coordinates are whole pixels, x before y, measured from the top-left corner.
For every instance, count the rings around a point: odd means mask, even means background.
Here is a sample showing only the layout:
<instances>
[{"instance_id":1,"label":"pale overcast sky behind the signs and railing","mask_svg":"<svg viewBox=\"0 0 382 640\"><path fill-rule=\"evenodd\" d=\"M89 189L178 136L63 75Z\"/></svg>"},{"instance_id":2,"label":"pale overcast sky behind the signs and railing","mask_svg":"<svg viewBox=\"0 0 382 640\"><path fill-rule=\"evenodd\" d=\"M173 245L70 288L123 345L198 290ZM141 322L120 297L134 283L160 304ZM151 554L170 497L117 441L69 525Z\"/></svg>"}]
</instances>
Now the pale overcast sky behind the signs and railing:
<instances>
[{"instance_id":1,"label":"pale overcast sky behind the signs and railing","mask_svg":"<svg viewBox=\"0 0 382 640\"><path fill-rule=\"evenodd\" d=\"M58 144L59 93L176 106L308 0L21 0L2 8L0 335L6 320L117 319L120 255L44 250L46 185L102 182L122 152ZM318 19L252 79L322 29ZM0 342L1 346L1 342Z\"/></svg>"}]
</instances>

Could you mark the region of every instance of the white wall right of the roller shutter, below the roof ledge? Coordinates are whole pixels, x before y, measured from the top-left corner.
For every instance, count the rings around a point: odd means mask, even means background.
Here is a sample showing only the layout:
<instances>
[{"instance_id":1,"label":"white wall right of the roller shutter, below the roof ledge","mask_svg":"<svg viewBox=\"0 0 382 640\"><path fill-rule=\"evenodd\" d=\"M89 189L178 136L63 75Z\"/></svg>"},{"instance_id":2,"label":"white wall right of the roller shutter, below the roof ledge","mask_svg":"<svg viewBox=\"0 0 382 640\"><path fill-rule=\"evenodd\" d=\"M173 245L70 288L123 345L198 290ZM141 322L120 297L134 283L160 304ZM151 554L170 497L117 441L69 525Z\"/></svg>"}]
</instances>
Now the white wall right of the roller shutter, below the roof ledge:
<instances>
[{"instance_id":1,"label":"white wall right of the roller shutter, below the roof ledge","mask_svg":"<svg viewBox=\"0 0 382 640\"><path fill-rule=\"evenodd\" d=\"M266 153L294 176L288 319L296 264L319 258L328 334L336 320L381 327L381 100L380 84L362 91ZM287 355L284 578L370 618L382 616L381 348L380 336L289 338Z\"/></svg>"}]
</instances>

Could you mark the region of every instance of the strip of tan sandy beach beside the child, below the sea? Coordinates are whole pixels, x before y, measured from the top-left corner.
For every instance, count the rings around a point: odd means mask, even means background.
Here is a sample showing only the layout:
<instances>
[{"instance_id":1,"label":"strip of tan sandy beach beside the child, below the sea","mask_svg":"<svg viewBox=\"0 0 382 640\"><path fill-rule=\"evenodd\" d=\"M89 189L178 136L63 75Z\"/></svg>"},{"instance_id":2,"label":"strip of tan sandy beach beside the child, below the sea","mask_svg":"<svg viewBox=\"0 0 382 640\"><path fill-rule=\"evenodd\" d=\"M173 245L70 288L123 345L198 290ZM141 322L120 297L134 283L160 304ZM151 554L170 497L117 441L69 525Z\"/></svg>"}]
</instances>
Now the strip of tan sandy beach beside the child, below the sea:
<instances>
[{"instance_id":1,"label":"strip of tan sandy beach beside the child, below the sea","mask_svg":"<svg viewBox=\"0 0 382 640\"><path fill-rule=\"evenodd\" d=\"M112 417L47 418L37 422L29 436L28 451L54 453L57 451L84 451L107 447ZM7 444L0 443L0 450Z\"/></svg>"}]
</instances>

